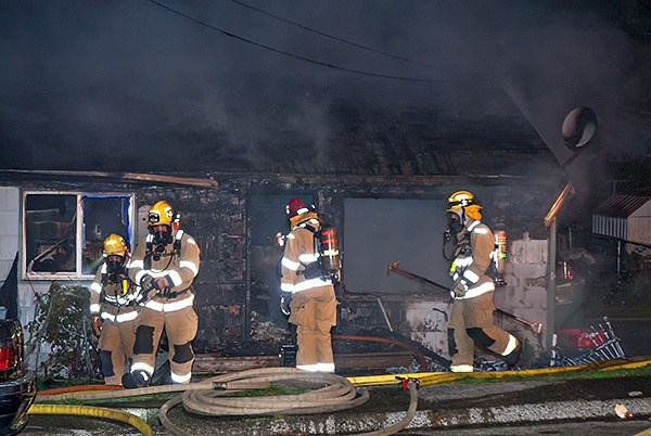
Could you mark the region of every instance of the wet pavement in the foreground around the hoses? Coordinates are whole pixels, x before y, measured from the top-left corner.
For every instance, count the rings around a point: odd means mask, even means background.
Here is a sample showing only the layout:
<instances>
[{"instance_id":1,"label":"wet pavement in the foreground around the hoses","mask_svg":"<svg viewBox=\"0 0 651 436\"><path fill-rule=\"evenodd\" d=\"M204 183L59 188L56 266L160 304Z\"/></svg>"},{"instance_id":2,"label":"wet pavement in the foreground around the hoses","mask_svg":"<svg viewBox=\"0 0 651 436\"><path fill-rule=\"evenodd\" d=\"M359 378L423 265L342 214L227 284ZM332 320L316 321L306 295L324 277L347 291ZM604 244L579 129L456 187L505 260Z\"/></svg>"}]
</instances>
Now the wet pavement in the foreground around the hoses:
<instances>
[{"instance_id":1,"label":"wet pavement in the foreground around the hoses","mask_svg":"<svg viewBox=\"0 0 651 436\"><path fill-rule=\"evenodd\" d=\"M651 364L651 362L643 363ZM397 434L427 435L433 432L451 434L549 434L544 429L554 424L552 434L573 433L571 423L611 426L600 434L635 435L651 432L651 377L609 376L598 379L495 381L463 383L461 381L432 384L419 389L416 415L407 428ZM171 410L175 425L195 435L307 435L361 434L380 431L398 422L409 406L409 395L399 384L368 387L370 399L357 408L323 414L301 416L214 418ZM161 401L162 403L162 401ZM146 406L146 407L145 407ZM157 421L159 405L135 401L123 410L145 419L156 436L169 435ZM620 418L617 410L625 408ZM620 412L622 413L622 412ZM602 424L599 424L601 422ZM618 425L621 424L621 425ZM532 426L540 426L542 433ZM508 433L514 428L515 433ZM524 433L526 428L528 433ZM597 428L597 427L595 427ZM616 429L616 431L615 431ZM617 433L622 431L623 433ZM60 432L60 433L58 433ZM465 432L465 433L463 433ZM493 432L493 433L490 433ZM511 431L509 431L511 432ZM628 432L628 433L626 433ZM26 436L42 435L137 435L126 424L86 418L34 415L24 432ZM588 432L587 434L591 434ZM597 434L597 433L596 433Z\"/></svg>"}]
</instances>

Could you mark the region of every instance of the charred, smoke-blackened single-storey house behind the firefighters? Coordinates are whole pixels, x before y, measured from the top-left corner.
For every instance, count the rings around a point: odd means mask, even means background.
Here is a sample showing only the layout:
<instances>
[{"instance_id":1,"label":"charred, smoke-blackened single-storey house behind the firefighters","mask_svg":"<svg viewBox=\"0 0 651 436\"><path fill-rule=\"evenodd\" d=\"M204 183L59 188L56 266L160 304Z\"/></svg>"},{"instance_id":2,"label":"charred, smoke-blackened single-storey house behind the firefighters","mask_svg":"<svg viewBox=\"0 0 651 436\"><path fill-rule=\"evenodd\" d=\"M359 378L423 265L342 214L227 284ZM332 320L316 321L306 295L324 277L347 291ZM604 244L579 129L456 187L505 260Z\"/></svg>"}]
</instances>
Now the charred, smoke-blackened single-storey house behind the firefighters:
<instances>
[{"instance_id":1,"label":"charred, smoke-blackened single-storey house behind the firefighters","mask_svg":"<svg viewBox=\"0 0 651 436\"><path fill-rule=\"evenodd\" d=\"M298 196L315 204L339 232L336 332L382 328L418 338L410 325L423 330L427 321L413 319L420 310L414 307L419 302L445 305L448 297L390 275L387 265L399 261L449 284L442 256L448 195L471 190L494 229L506 230L510 239L528 232L545 240L542 218L565 176L523 117L450 113L442 118L422 107L392 115L333 106L334 127L311 159L289 153L286 144L296 138L281 137L266 144L276 161L245 167L244 161L231 162L232 170L222 163L208 172L2 170L9 223L2 234L2 279L17 259L17 315L29 322L34 293L47 291L52 281L89 285L103 238L119 231L135 243L146 232L148 207L167 200L202 249L194 285L196 351L276 354L288 334L278 307L282 253L276 235L288 231L284 204Z\"/></svg>"}]
</instances>

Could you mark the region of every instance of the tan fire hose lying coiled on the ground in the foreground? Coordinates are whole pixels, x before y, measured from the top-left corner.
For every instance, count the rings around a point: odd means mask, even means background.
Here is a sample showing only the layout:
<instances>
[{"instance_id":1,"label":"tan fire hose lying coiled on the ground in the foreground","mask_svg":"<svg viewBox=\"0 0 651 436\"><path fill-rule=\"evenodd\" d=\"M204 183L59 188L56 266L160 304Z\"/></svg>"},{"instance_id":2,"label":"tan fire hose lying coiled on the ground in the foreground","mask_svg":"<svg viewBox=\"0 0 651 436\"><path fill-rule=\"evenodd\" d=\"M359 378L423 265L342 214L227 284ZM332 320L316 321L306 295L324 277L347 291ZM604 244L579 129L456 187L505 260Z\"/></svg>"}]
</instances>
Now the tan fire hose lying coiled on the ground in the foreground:
<instances>
[{"instance_id":1,"label":"tan fire hose lying coiled on the ground in the foreground","mask_svg":"<svg viewBox=\"0 0 651 436\"><path fill-rule=\"evenodd\" d=\"M268 388L272 383L290 387L301 387L303 390L307 389L307 392L295 395L264 397L225 396L229 393L232 394L235 390ZM396 383L395 377L394 383ZM365 433L365 436L393 435L405 428L411 422L418 406L418 390L416 383L409 383L408 387L410 402L404 419L386 428ZM37 401L69 398L79 400L99 400L170 392L182 392L182 394L179 397L168 400L158 410L158 419L165 428L178 436L190 436L191 434L176 426L169 420L167 414L170 409L181 403L189 412L208 416L295 415L347 410L363 405L369 399L367 389L357 389L350 381L344 376L327 373L312 373L296 370L295 368L281 367L222 374L188 385L165 385L138 389L38 395Z\"/></svg>"}]
</instances>

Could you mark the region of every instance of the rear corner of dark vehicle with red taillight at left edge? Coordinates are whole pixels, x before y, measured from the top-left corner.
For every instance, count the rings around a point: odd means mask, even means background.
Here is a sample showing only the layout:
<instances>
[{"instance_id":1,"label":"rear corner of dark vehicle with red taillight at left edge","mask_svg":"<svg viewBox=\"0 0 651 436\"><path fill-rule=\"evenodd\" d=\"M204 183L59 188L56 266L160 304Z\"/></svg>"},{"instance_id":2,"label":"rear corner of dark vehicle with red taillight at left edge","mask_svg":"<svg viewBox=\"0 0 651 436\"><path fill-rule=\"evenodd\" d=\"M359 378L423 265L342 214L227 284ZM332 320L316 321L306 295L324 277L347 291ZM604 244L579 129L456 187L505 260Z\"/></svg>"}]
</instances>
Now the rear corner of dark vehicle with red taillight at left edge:
<instances>
[{"instance_id":1,"label":"rear corner of dark vehicle with red taillight at left edge","mask_svg":"<svg viewBox=\"0 0 651 436\"><path fill-rule=\"evenodd\" d=\"M0 320L0 436L21 433L36 397L36 373L25 368L23 329Z\"/></svg>"}]
</instances>

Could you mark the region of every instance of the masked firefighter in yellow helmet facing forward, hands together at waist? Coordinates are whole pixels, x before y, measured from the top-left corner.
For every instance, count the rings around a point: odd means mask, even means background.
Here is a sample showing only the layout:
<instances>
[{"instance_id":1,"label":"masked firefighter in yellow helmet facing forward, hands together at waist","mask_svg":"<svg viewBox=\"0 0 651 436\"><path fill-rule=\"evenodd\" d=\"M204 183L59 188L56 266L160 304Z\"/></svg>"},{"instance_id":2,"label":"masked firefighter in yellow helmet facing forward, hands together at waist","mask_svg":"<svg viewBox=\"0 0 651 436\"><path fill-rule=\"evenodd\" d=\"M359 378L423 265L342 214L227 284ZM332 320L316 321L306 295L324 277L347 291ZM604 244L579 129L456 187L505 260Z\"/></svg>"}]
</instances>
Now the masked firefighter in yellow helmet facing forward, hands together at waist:
<instances>
[{"instance_id":1,"label":"masked firefighter in yellow helmet facing forward, hands together at waist","mask_svg":"<svg viewBox=\"0 0 651 436\"><path fill-rule=\"evenodd\" d=\"M136 322L133 364L123 377L127 388L150 384L163 331L169 344L171 383L190 383L194 362L197 317L192 282L199 273L200 248L179 229L179 216L169 203L155 203L146 219L149 234L129 262L129 277L141 287L142 308Z\"/></svg>"}]
</instances>

